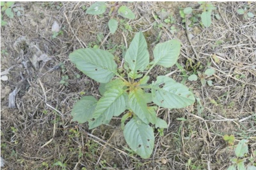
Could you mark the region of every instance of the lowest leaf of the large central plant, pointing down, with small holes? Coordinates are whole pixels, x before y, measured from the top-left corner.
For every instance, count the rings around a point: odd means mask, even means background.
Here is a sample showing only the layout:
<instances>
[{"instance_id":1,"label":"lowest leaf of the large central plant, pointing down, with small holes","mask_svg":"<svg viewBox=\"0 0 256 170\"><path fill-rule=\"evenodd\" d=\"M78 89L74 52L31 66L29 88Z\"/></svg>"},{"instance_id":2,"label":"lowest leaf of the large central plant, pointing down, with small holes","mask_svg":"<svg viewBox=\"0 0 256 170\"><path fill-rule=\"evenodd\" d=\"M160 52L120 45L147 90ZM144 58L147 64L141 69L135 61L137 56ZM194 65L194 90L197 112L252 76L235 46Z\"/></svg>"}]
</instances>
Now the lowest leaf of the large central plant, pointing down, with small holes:
<instances>
[{"instance_id":1,"label":"lowest leaf of the large central plant, pointing down, with small holes","mask_svg":"<svg viewBox=\"0 0 256 170\"><path fill-rule=\"evenodd\" d=\"M148 124L132 118L124 126L124 138L130 148L141 158L147 159L152 154L155 136L153 128Z\"/></svg>"}]
</instances>

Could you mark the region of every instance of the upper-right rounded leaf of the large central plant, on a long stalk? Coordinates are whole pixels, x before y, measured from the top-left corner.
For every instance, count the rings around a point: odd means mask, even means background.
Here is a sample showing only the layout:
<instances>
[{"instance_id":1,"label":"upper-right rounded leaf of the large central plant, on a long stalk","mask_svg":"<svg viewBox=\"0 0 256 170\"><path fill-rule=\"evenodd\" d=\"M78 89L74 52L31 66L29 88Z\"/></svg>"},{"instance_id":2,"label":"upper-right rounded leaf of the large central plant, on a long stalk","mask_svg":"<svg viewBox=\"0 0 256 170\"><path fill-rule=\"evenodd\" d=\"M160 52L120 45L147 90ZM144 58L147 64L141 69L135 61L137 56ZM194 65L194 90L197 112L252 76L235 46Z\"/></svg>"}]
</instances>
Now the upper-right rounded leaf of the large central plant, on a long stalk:
<instances>
[{"instance_id":1,"label":"upper-right rounded leaf of the large central plant, on a long stalk","mask_svg":"<svg viewBox=\"0 0 256 170\"><path fill-rule=\"evenodd\" d=\"M159 43L154 48L154 63L164 67L172 67L180 55L180 41L172 39Z\"/></svg>"}]
</instances>

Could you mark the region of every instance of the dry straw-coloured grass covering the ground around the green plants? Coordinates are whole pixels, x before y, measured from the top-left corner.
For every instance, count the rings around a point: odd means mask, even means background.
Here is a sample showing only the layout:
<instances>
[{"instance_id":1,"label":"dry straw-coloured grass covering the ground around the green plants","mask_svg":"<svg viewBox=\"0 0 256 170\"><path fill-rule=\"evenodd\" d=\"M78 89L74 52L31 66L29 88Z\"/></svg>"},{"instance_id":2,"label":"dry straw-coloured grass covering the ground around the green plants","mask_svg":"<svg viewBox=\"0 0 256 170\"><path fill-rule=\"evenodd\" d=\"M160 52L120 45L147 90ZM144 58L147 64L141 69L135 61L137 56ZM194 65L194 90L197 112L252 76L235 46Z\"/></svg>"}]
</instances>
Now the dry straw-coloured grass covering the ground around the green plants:
<instances>
[{"instance_id":1,"label":"dry straw-coloured grass covering the ground around the green plants","mask_svg":"<svg viewBox=\"0 0 256 170\"><path fill-rule=\"evenodd\" d=\"M244 20L236 13L247 2L215 3L218 9L214 13L221 19L214 18L209 28L203 29L196 23L189 30L181 24L179 8L198 8L196 3L123 3L133 9L137 17L129 21L132 31L118 29L115 35L108 34L108 15L85 15L82 6L91 3L64 2L60 9L51 3L44 7L43 4L46 3L16 3L25 9L23 15L8 20L8 25L1 27L1 50L8 52L1 55L1 71L14 66L9 80L1 81L1 156L7 161L5 169L46 169L43 162L48 163L49 169L60 169L60 166L52 166L57 161L66 163L66 169L191 169L192 164L201 169L226 169L234 152L223 141L224 134L234 134L236 143L242 138L249 139L248 155L256 158L256 18ZM247 5L253 12L255 2ZM161 21L155 20L152 13L163 8L177 21L174 25L179 31L174 35L168 31L170 25L154 28L154 22ZM64 35L51 39L55 20L61 27L65 26ZM73 104L83 96L81 92L96 98L100 95L99 84L81 74L68 60L68 54L88 47L90 42L96 41L98 33L105 39L101 44L103 49L115 44L129 45L139 30L145 31L151 54L158 42L178 38L182 42L180 65L185 67L188 59L199 60L198 71L203 72L208 67L216 70L207 78L213 81L212 87L202 87L200 81L185 82L201 99L202 112L197 109L198 104L186 109L158 110L158 116L169 126L164 137L155 133L155 150L147 160L123 149L128 146L120 131L119 118L113 119L110 125L89 131L87 124L72 122L70 116ZM191 42L186 32L194 35ZM52 60L40 62L39 69L34 69L26 60L32 52L21 55L13 50L14 42L21 36L35 42ZM223 43L216 45L220 40ZM121 53L120 48L115 52L116 56ZM22 61L27 62L27 69ZM77 74L81 77L76 78ZM182 80L182 72L175 66L171 69L156 67L150 74L152 80L165 74L179 82ZM68 86L59 84L62 75L68 75ZM10 109L8 94L24 78L26 84L17 95L16 108ZM176 120L179 117L187 120ZM42 147L45 143L47 145ZM190 166L188 160L191 160Z\"/></svg>"}]
</instances>

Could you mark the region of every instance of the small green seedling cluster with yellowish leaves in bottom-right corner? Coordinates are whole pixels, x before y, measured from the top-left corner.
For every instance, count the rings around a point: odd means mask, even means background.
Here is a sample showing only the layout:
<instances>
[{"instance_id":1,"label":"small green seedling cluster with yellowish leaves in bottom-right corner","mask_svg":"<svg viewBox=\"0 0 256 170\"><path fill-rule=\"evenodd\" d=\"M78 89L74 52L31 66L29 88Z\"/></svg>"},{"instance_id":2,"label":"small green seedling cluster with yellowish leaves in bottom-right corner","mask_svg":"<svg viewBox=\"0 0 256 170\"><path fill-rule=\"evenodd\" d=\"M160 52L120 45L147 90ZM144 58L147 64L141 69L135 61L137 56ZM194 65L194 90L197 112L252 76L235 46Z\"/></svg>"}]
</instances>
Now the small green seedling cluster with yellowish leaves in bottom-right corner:
<instances>
[{"instance_id":1,"label":"small green seedling cluster with yellowish leaves in bottom-right corner","mask_svg":"<svg viewBox=\"0 0 256 170\"><path fill-rule=\"evenodd\" d=\"M234 135L224 135L223 139L225 141L228 141L228 145L234 145L234 140L235 137ZM252 165L247 165L247 168L245 167L244 163L246 161L246 158L244 158L244 156L246 156L246 154L248 153L248 145L246 144L246 139L242 139L240 140L240 142L236 145L234 151L236 153L236 158L232 158L231 162L232 165L228 167L227 170L255 170L256 166L253 166L254 163L254 159L249 159L251 161ZM244 159L243 159L244 158Z\"/></svg>"}]
</instances>

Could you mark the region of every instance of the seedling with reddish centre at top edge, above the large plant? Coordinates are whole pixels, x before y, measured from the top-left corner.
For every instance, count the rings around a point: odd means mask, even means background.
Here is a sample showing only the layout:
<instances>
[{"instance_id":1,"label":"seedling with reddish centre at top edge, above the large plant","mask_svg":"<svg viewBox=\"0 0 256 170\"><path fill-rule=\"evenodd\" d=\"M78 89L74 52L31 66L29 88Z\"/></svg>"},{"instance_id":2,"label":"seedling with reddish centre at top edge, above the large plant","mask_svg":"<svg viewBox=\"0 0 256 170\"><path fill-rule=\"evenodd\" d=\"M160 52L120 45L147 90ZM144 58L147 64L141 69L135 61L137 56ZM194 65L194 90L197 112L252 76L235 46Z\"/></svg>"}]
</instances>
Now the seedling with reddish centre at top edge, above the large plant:
<instances>
[{"instance_id":1,"label":"seedling with reddish centre at top edge, above the large plant","mask_svg":"<svg viewBox=\"0 0 256 170\"><path fill-rule=\"evenodd\" d=\"M114 14L116 13L117 6L118 5L114 4L112 7L110 7L110 11L109 11L109 16L112 15L112 17L108 21L108 28L112 34L116 32L116 29L118 27L118 21L113 17ZM85 6L83 6L82 9L85 10ZM103 14L106 11L106 9L107 9L107 5L104 2L96 2L86 10L86 14L100 15L100 14ZM118 8L118 14L124 18L135 19L134 13L127 6L120 6ZM130 25L125 24L124 26L127 27L127 29L129 29Z\"/></svg>"}]
</instances>

